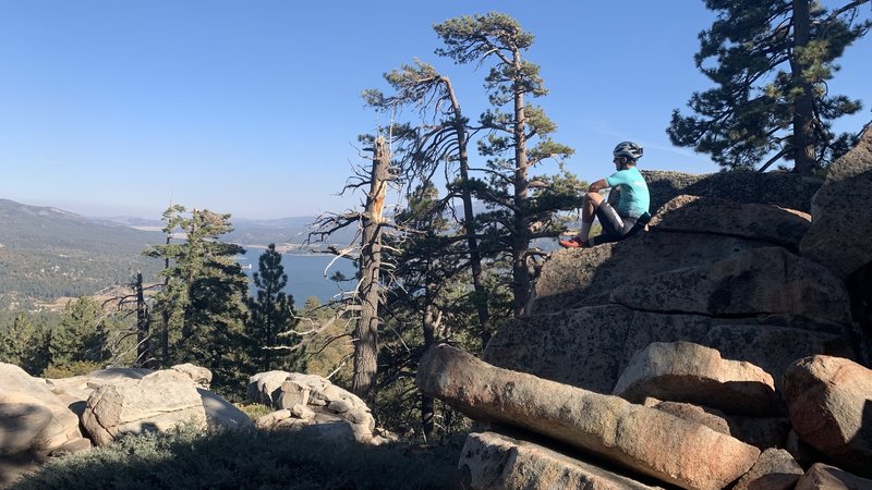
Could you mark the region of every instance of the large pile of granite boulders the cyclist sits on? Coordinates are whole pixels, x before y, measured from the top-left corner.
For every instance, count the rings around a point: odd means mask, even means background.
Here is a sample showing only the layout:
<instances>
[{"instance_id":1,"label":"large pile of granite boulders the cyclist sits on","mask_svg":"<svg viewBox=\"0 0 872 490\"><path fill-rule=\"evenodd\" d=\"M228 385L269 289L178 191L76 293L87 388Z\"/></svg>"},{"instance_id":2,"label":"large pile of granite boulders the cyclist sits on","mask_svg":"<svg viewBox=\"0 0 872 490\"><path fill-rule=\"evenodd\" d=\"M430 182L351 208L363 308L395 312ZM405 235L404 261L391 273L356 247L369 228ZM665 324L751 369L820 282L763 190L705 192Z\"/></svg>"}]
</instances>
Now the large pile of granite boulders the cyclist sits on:
<instances>
[{"instance_id":1,"label":"large pile of granite boulders the cyclist sits on","mask_svg":"<svg viewBox=\"0 0 872 490\"><path fill-rule=\"evenodd\" d=\"M464 481L872 489L872 131L823 182L646 176L649 233L552 254L482 359L422 358L489 428Z\"/></svg>"}]
</instances>

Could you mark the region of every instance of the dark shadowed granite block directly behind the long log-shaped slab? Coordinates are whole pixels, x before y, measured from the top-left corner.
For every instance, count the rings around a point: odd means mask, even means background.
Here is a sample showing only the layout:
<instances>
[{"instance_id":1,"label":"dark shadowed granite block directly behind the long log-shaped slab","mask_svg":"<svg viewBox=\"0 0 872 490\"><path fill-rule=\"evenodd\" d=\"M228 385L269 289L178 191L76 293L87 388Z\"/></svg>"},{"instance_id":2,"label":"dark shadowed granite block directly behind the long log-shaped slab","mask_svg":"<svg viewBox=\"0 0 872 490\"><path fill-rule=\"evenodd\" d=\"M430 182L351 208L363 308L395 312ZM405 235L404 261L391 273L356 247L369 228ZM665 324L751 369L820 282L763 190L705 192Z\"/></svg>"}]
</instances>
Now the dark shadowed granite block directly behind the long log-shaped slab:
<instances>
[{"instance_id":1,"label":"dark shadowed granite block directly behind the long log-shaped slab","mask_svg":"<svg viewBox=\"0 0 872 490\"><path fill-rule=\"evenodd\" d=\"M840 328L784 315L712 318L603 305L511 320L487 344L483 359L611 393L637 351L652 342L687 341L716 348L724 358L760 366L777 385L784 369L800 357L826 353L853 358L850 341L839 333Z\"/></svg>"}]
</instances>

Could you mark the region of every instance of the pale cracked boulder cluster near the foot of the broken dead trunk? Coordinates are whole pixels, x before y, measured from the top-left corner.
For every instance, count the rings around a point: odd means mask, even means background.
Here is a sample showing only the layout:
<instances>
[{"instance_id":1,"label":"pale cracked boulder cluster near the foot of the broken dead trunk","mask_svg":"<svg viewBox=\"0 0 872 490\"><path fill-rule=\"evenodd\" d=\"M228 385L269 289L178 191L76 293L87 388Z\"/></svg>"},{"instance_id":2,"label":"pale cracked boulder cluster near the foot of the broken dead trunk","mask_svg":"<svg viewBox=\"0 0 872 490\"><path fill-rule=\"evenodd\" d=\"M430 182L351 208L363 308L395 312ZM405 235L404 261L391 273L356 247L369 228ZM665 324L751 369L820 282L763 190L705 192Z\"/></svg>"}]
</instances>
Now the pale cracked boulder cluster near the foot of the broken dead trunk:
<instances>
[{"instance_id":1,"label":"pale cracked boulder cluster near the foot of the broken dead trunk","mask_svg":"<svg viewBox=\"0 0 872 490\"><path fill-rule=\"evenodd\" d=\"M324 425L306 430L330 439L351 436L358 442L383 442L374 437L375 418L363 400L320 376L261 372L249 379L246 392L252 401L277 408L255 421L258 428L299 430Z\"/></svg>"}]
</instances>

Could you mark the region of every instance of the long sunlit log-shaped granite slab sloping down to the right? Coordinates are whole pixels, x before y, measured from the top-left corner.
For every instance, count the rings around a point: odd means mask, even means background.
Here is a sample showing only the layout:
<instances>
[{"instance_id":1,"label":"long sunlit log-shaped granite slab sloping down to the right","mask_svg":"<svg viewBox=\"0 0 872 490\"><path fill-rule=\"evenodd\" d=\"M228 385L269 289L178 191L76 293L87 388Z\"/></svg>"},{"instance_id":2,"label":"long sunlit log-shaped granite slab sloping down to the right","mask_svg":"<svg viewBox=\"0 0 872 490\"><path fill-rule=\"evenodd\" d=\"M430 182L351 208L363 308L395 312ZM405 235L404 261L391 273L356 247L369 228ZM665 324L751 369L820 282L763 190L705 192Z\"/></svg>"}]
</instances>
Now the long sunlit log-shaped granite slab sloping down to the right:
<instances>
[{"instance_id":1,"label":"long sunlit log-shaped granite slab sloping down to the right","mask_svg":"<svg viewBox=\"0 0 872 490\"><path fill-rule=\"evenodd\" d=\"M448 345L424 354L417 385L474 419L520 427L681 488L724 488L760 454L699 424L500 369Z\"/></svg>"}]
</instances>

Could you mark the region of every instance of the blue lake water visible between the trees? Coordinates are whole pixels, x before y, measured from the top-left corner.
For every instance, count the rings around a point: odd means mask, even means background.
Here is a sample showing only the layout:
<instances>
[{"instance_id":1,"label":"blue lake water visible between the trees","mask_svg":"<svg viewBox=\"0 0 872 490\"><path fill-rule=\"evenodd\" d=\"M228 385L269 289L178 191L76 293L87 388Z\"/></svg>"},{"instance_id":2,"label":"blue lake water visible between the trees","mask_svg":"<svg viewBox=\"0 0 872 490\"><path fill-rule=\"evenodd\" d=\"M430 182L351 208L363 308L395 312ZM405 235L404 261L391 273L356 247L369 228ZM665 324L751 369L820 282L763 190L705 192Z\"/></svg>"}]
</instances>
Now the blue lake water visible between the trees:
<instances>
[{"instance_id":1,"label":"blue lake water visible between the trees","mask_svg":"<svg viewBox=\"0 0 872 490\"><path fill-rule=\"evenodd\" d=\"M245 255L238 259L249 275L251 289L254 287L252 274L257 272L257 259L263 253L263 248L247 248ZM284 292L293 296L295 307L302 307L310 296L316 296L322 303L326 303L341 290L348 291L354 286L352 281L341 282L337 285L336 282L328 279L337 271L342 272L347 278L353 278L354 265L351 260L337 259L327 271L327 278L324 277L324 269L332 259L331 255L282 254L281 265L284 267L284 273L288 274L288 285L284 287Z\"/></svg>"}]
</instances>

